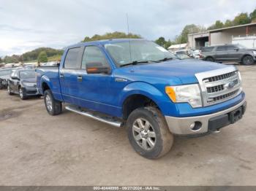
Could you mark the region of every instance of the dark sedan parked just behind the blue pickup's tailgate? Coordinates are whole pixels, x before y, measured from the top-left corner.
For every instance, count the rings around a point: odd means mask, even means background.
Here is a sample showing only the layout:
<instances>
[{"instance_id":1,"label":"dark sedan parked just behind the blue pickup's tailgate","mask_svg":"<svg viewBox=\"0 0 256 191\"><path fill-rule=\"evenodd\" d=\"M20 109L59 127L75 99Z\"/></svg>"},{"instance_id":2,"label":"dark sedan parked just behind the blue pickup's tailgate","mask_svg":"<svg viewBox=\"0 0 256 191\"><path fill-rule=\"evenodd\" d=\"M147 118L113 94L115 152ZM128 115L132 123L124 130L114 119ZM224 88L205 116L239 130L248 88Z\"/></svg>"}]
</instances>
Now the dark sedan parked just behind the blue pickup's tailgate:
<instances>
[{"instance_id":1,"label":"dark sedan parked just behind the blue pickup's tailgate","mask_svg":"<svg viewBox=\"0 0 256 191\"><path fill-rule=\"evenodd\" d=\"M18 94L22 100L39 95L37 91L36 72L34 69L16 69L8 79L8 93Z\"/></svg>"}]
</instances>

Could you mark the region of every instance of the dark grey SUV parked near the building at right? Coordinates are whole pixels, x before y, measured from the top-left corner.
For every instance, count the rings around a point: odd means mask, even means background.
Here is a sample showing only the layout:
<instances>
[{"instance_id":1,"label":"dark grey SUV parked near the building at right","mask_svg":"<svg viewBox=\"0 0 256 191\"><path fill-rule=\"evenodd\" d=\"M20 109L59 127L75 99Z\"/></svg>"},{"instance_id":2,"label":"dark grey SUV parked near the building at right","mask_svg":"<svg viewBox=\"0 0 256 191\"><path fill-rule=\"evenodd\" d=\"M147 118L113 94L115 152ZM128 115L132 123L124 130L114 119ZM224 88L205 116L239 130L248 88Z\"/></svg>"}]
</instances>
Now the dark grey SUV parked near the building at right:
<instances>
[{"instance_id":1,"label":"dark grey SUV parked near the building at right","mask_svg":"<svg viewBox=\"0 0 256 191\"><path fill-rule=\"evenodd\" d=\"M256 61L256 50L247 49L241 44L214 46L211 51L203 52L203 60L211 62L238 62L252 65Z\"/></svg>"}]
</instances>

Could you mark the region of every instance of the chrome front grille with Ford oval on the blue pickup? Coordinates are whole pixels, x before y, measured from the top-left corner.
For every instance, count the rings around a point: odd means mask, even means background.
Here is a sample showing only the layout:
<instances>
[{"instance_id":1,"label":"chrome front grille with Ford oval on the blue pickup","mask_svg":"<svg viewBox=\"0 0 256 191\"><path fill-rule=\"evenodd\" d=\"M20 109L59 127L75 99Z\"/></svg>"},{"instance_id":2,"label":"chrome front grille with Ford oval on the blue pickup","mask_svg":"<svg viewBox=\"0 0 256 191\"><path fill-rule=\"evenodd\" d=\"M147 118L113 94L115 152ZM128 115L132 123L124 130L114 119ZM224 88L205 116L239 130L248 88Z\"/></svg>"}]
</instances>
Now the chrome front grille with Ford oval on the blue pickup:
<instances>
[{"instance_id":1,"label":"chrome front grille with Ford oval on the blue pickup","mask_svg":"<svg viewBox=\"0 0 256 191\"><path fill-rule=\"evenodd\" d=\"M239 74L234 66L195 74L200 84L203 106L222 103L241 93Z\"/></svg>"}]
</instances>

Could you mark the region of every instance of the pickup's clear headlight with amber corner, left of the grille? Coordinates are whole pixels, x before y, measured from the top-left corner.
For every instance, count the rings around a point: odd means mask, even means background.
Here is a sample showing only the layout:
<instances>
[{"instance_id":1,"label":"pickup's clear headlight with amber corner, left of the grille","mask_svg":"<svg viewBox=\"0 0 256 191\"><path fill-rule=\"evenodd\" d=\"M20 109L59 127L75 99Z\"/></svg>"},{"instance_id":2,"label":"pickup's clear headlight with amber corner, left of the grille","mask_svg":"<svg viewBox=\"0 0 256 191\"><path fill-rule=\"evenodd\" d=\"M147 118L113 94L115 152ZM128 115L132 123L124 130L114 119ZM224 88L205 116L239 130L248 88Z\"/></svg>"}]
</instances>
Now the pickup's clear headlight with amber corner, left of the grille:
<instances>
[{"instance_id":1,"label":"pickup's clear headlight with amber corner, left of the grille","mask_svg":"<svg viewBox=\"0 0 256 191\"><path fill-rule=\"evenodd\" d=\"M192 107L202 106L199 85L178 85L165 87L165 93L175 103L187 102Z\"/></svg>"}]
</instances>

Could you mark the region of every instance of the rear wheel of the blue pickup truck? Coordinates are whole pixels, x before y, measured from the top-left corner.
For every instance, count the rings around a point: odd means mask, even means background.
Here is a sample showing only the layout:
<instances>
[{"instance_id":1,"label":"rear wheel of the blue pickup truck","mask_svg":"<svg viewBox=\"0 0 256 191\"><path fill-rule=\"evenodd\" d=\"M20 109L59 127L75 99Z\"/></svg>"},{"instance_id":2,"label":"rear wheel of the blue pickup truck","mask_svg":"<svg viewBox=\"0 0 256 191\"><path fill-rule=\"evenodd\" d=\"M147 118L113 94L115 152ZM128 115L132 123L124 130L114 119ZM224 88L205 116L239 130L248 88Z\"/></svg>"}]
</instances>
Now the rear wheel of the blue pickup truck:
<instances>
[{"instance_id":1,"label":"rear wheel of the blue pickup truck","mask_svg":"<svg viewBox=\"0 0 256 191\"><path fill-rule=\"evenodd\" d=\"M50 90L45 90L44 101L45 101L45 108L48 114L50 115L61 114L62 103L61 101L56 101L56 99L53 98L53 93L51 93Z\"/></svg>"}]
</instances>

